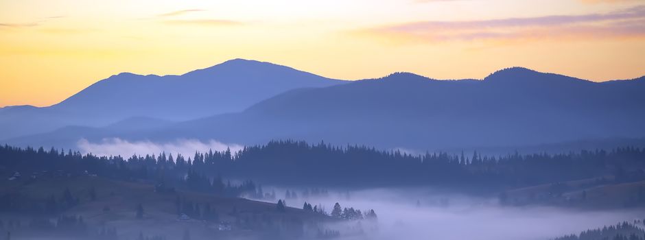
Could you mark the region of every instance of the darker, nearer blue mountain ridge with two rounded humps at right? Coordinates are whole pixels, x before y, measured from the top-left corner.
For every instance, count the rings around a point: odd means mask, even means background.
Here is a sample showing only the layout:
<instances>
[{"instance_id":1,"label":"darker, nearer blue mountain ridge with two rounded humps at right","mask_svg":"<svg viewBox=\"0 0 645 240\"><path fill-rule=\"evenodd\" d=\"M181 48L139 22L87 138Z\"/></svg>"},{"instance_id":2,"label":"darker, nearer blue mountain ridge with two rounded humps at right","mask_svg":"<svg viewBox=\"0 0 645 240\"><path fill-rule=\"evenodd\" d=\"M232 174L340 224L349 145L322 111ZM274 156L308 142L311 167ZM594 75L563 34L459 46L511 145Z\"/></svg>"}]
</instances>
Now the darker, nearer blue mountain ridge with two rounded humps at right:
<instances>
[{"instance_id":1,"label":"darker, nearer blue mountain ridge with two rounded humps at right","mask_svg":"<svg viewBox=\"0 0 645 240\"><path fill-rule=\"evenodd\" d=\"M413 73L296 88L237 113L154 130L56 132L13 139L47 145L85 138L216 139L255 145L274 139L392 149L478 149L645 136L645 81L591 82L525 68L484 80L432 80ZM108 132L109 134L106 134Z\"/></svg>"}]
</instances>

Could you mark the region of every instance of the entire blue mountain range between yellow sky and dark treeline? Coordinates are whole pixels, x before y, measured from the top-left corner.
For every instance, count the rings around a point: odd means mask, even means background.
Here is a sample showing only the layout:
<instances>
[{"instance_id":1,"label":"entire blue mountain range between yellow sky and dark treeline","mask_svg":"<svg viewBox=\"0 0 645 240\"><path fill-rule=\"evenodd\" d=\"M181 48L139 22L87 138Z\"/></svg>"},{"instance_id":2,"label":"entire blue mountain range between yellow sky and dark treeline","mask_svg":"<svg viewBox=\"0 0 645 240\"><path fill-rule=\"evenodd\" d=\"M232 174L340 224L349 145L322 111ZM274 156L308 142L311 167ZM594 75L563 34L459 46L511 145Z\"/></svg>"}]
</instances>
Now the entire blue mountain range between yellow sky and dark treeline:
<instances>
[{"instance_id":1,"label":"entire blue mountain range between yellow sky and dark treeline","mask_svg":"<svg viewBox=\"0 0 645 240\"><path fill-rule=\"evenodd\" d=\"M645 77L591 82L513 67L483 80L393 73L344 82L231 60L181 76L122 73L49 108L4 108L0 119L65 116L47 130L3 134L12 145L295 139L418 151L480 149L643 138L642 93ZM92 118L106 119L95 125L78 120Z\"/></svg>"}]
</instances>

